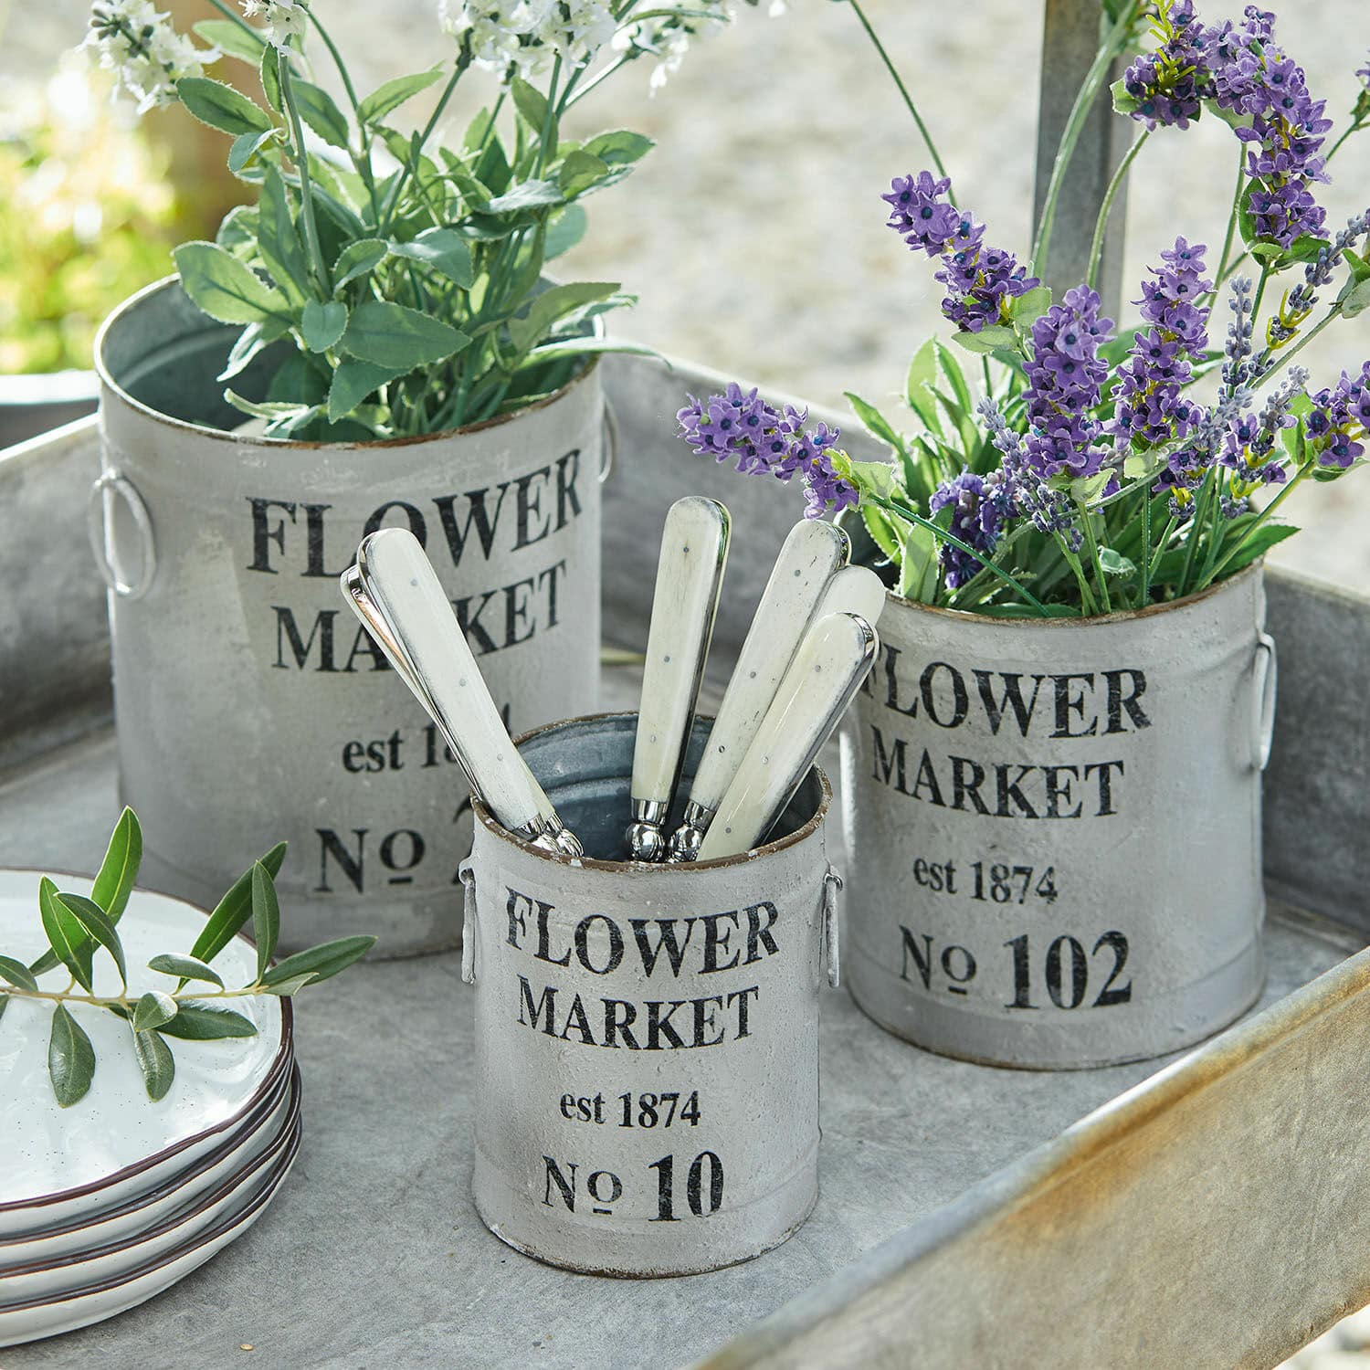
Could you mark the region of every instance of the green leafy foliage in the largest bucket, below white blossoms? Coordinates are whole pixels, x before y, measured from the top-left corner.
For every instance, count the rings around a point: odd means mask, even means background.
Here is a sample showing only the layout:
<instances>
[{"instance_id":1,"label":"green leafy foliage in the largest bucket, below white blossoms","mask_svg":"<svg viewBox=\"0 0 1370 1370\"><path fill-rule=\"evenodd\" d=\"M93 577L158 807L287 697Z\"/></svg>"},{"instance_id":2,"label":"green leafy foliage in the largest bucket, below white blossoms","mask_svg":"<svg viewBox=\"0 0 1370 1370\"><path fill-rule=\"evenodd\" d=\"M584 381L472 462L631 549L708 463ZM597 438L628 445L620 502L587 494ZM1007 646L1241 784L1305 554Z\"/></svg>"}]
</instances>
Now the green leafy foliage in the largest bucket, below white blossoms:
<instances>
[{"instance_id":1,"label":"green leafy foliage in the largest bucket, below white blossoms","mask_svg":"<svg viewBox=\"0 0 1370 1370\"><path fill-rule=\"evenodd\" d=\"M311 11L311 32L325 18ZM242 329L226 385L263 355L281 358L267 393L225 390L267 436L441 432L516 410L619 349L596 336L596 321L630 297L616 284L551 284L544 270L584 234L580 201L627 175L651 138L608 129L564 140L575 82L563 74L512 78L499 110L480 111L460 144L444 147L434 130L466 49L455 66L386 81L344 107L299 44L285 55L218 19L199 32L233 62L182 79L177 95L229 137L230 170L260 193L215 242L188 242L175 262L190 299ZM426 92L430 101L436 92L432 119L397 127Z\"/></svg>"}]
</instances>

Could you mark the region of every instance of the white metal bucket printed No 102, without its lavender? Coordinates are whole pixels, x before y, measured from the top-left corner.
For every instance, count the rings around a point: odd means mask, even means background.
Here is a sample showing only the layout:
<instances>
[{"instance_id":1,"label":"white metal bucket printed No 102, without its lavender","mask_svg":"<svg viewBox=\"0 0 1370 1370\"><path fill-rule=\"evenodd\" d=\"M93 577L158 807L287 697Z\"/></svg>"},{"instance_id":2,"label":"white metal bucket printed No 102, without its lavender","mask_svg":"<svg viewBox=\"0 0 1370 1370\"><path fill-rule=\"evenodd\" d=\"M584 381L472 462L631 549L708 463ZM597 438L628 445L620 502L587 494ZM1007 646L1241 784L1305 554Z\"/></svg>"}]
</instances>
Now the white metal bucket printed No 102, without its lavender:
<instances>
[{"instance_id":1,"label":"white metal bucket printed No 102, without its lavender","mask_svg":"<svg viewBox=\"0 0 1370 1370\"><path fill-rule=\"evenodd\" d=\"M891 596L880 630L843 734L856 1003L919 1047L1040 1069L1158 1056L1248 1008L1260 567L1095 621Z\"/></svg>"}]
</instances>

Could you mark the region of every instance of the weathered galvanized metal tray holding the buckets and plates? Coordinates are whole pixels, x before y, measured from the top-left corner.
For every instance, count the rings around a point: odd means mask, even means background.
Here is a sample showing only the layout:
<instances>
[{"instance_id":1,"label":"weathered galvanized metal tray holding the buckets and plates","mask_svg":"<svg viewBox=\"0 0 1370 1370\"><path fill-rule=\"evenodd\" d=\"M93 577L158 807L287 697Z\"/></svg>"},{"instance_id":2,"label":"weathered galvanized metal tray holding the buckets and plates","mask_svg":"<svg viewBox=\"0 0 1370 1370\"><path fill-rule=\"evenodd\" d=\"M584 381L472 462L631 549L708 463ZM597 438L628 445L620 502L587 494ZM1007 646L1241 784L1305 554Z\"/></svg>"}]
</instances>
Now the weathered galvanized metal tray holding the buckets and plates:
<instances>
[{"instance_id":1,"label":"weathered galvanized metal tray holding the buckets and plates","mask_svg":"<svg viewBox=\"0 0 1370 1370\"><path fill-rule=\"evenodd\" d=\"M795 501L673 437L714 377L633 360L608 379L606 630L641 645L667 504L718 495L738 534L726 670ZM0 458L0 864L89 867L115 812L96 469L89 425ZM1280 575L1270 607L1270 978L1222 1036L1170 1064L1007 1071L915 1051L830 993L814 1217L751 1263L623 1282L480 1225L459 958L364 964L300 1000L304 1144L269 1218L152 1303L0 1365L242 1365L242 1345L292 1367L1277 1365L1370 1300L1370 603ZM607 707L634 693L606 673Z\"/></svg>"}]
</instances>

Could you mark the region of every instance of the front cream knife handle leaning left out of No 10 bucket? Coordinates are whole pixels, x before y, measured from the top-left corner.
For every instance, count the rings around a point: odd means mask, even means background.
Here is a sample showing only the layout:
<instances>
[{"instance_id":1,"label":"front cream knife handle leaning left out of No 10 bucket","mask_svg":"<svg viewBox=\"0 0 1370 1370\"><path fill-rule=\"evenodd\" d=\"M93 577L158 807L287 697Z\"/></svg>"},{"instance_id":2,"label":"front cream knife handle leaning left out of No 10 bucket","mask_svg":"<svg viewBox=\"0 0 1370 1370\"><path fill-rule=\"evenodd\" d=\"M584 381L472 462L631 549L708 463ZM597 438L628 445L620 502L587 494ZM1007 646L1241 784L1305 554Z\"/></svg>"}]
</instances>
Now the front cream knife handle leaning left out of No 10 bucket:
<instances>
[{"instance_id":1,"label":"front cream knife handle leaning left out of No 10 bucket","mask_svg":"<svg viewBox=\"0 0 1370 1370\"><path fill-rule=\"evenodd\" d=\"M358 570L404 652L406 684L452 744L471 789L508 829L545 826L555 819L547 795L510 741L418 538L399 527L369 534L358 551Z\"/></svg>"}]
</instances>

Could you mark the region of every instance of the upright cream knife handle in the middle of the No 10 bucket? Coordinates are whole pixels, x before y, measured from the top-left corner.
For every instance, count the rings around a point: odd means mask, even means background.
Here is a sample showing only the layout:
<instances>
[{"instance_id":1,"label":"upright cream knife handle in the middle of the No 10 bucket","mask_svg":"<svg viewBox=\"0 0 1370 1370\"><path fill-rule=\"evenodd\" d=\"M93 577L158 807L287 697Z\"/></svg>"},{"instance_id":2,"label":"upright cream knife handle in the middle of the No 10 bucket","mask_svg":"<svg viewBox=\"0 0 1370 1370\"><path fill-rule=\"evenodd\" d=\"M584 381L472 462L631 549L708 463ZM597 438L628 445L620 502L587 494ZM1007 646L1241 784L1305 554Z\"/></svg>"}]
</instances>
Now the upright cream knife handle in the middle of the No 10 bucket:
<instances>
[{"instance_id":1,"label":"upright cream knife handle in the middle of the No 10 bucket","mask_svg":"<svg viewBox=\"0 0 1370 1370\"><path fill-rule=\"evenodd\" d=\"M727 510L717 500L690 495L666 515L633 748L634 803L670 807L714 634L727 538Z\"/></svg>"}]
</instances>

